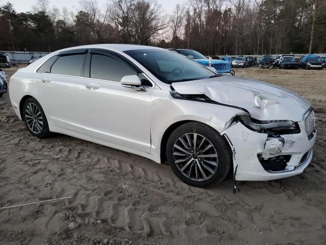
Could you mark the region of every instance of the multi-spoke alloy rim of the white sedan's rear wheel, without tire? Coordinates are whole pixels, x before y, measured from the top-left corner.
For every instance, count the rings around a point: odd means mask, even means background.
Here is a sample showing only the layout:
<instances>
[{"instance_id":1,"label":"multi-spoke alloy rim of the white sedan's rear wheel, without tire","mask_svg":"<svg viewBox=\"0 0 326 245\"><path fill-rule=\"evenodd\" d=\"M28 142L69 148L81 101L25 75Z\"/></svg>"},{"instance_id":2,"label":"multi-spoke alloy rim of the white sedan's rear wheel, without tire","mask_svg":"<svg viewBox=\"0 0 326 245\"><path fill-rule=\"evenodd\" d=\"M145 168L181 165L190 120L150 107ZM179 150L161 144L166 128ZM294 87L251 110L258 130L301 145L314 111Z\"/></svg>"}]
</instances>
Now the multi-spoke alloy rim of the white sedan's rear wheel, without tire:
<instances>
[{"instance_id":1,"label":"multi-spoke alloy rim of the white sedan's rear wheel, without tire","mask_svg":"<svg viewBox=\"0 0 326 245\"><path fill-rule=\"evenodd\" d=\"M29 129L39 134L43 128L43 117L40 109L34 103L29 103L25 107L25 120Z\"/></svg>"}]
</instances>

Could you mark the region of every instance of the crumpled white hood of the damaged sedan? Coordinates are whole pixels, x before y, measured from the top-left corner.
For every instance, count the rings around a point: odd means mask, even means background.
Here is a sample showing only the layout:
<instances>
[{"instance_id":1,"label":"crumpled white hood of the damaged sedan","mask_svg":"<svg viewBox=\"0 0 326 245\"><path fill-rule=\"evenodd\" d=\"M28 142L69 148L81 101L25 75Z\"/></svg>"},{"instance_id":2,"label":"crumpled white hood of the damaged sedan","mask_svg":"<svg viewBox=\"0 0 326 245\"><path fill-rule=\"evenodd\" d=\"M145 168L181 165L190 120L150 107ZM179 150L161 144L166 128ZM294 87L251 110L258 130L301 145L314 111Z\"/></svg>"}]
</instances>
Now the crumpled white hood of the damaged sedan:
<instances>
[{"instance_id":1,"label":"crumpled white hood of the damaged sedan","mask_svg":"<svg viewBox=\"0 0 326 245\"><path fill-rule=\"evenodd\" d=\"M211 100L249 111L258 120L303 120L311 104L303 97L268 83L221 76L172 83L180 94L205 94Z\"/></svg>"}]
</instances>

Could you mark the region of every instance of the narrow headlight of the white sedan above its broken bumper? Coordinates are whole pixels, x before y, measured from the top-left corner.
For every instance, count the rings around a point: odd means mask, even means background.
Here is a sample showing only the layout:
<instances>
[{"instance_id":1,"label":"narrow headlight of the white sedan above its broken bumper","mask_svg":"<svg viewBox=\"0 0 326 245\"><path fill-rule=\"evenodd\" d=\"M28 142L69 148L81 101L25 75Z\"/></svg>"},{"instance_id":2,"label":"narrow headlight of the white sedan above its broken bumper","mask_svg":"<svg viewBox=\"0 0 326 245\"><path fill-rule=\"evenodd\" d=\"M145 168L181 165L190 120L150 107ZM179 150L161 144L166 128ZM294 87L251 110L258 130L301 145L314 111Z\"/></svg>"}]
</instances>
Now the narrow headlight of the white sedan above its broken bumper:
<instances>
[{"instance_id":1,"label":"narrow headlight of the white sedan above its broken bumper","mask_svg":"<svg viewBox=\"0 0 326 245\"><path fill-rule=\"evenodd\" d=\"M239 118L244 126L260 133L300 133L298 124L291 120L259 121L251 118L250 115Z\"/></svg>"}]
</instances>

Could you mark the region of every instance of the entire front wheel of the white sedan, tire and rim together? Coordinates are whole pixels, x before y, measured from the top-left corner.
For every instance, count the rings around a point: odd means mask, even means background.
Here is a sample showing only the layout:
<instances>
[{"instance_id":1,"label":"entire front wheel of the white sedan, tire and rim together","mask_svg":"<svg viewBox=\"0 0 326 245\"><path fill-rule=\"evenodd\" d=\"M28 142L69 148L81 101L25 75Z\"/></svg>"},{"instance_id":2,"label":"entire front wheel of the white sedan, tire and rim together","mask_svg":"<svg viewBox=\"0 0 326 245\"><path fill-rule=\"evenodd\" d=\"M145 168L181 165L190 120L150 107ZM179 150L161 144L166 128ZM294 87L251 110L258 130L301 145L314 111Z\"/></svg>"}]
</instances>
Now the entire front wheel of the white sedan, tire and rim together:
<instances>
[{"instance_id":1,"label":"entire front wheel of the white sedan, tire and rim together","mask_svg":"<svg viewBox=\"0 0 326 245\"><path fill-rule=\"evenodd\" d=\"M197 152L193 149L195 135ZM180 138L184 139L188 149ZM202 142L203 138L205 139ZM190 147L190 144L193 145ZM185 154L184 149L188 153L193 151L193 155ZM232 154L224 138L216 130L200 122L188 122L175 129L168 139L166 152L175 175L184 183L195 187L220 183L232 166ZM208 155L213 157L207 157Z\"/></svg>"}]
</instances>

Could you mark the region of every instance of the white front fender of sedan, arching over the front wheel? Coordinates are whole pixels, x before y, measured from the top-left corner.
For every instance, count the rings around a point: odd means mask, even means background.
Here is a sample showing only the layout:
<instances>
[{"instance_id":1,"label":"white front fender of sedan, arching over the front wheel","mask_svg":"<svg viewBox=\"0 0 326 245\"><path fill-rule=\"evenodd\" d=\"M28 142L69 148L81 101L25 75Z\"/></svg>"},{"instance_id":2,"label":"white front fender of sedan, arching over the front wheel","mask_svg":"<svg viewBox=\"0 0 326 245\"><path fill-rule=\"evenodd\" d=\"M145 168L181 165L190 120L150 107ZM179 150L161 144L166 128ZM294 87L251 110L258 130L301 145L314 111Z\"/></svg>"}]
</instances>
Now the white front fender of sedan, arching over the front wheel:
<instances>
[{"instance_id":1,"label":"white front fender of sedan, arching over the front wheel","mask_svg":"<svg viewBox=\"0 0 326 245\"><path fill-rule=\"evenodd\" d=\"M170 92L165 90L155 90L153 96L151 151L155 153L160 153L162 136L175 122L199 121L222 132L230 125L234 116L246 113L223 105L174 99Z\"/></svg>"}]
</instances>

